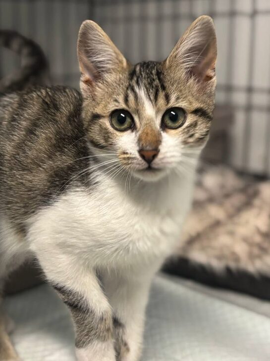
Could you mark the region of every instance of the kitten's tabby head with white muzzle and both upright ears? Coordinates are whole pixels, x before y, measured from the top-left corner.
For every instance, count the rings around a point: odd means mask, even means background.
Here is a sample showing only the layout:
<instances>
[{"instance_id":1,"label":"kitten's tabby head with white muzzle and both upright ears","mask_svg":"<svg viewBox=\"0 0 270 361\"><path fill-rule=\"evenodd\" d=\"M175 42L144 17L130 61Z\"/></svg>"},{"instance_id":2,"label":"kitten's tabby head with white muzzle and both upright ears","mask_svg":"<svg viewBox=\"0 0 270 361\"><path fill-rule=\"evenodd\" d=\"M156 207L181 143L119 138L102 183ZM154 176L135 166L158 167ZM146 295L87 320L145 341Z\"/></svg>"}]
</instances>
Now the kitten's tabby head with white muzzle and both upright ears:
<instances>
[{"instance_id":1,"label":"kitten's tabby head with white muzzle and both upright ears","mask_svg":"<svg viewBox=\"0 0 270 361\"><path fill-rule=\"evenodd\" d=\"M135 66L87 20L78 59L89 145L104 169L151 181L195 163L215 103L216 34L209 16L194 21L164 61Z\"/></svg>"}]
</instances>

